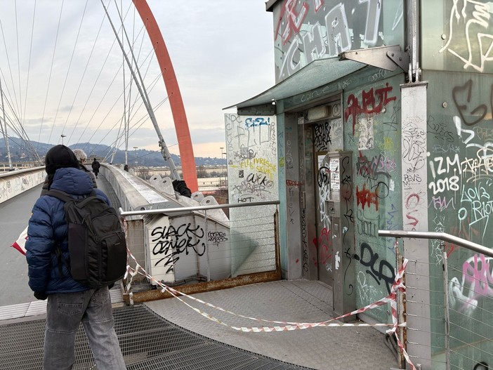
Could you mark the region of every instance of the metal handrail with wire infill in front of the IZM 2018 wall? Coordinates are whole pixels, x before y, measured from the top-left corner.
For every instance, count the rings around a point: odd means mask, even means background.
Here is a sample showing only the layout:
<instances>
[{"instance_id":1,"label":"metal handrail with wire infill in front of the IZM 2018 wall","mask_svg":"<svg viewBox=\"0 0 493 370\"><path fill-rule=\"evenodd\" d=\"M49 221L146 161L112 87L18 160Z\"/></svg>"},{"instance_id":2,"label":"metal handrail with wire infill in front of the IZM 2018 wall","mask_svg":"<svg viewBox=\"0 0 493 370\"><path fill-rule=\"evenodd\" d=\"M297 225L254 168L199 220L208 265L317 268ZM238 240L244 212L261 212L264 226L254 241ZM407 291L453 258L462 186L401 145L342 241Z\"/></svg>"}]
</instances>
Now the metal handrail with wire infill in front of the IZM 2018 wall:
<instances>
[{"instance_id":1,"label":"metal handrail with wire infill in front of the IZM 2018 wall","mask_svg":"<svg viewBox=\"0 0 493 370\"><path fill-rule=\"evenodd\" d=\"M406 344L413 363L424 363L423 369L433 370L491 368L492 252L445 233L379 232L389 233L442 240L441 254L437 253L437 242L430 242L428 260L409 260L406 269ZM454 248L445 248L444 242L453 242ZM416 284L419 279L428 282L426 289Z\"/></svg>"}]
</instances>

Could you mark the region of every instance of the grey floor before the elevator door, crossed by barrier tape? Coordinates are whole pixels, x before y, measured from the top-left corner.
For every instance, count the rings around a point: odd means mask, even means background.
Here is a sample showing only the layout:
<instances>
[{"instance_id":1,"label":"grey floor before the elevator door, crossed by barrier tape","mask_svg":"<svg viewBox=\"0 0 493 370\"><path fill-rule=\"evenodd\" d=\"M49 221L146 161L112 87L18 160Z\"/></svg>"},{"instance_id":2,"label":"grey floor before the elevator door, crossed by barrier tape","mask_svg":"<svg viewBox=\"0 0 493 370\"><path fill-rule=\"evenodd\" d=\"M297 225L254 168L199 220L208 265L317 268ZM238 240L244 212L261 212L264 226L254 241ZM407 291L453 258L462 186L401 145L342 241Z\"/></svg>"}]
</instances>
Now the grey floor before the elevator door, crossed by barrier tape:
<instances>
[{"instance_id":1,"label":"grey floor before the elevator door, crossed by barrier tape","mask_svg":"<svg viewBox=\"0 0 493 370\"><path fill-rule=\"evenodd\" d=\"M322 322L331 318L331 290L308 280L268 282L199 293L200 298L239 315L284 322ZM195 308L230 326L273 326L229 315L185 298ZM146 303L165 319L237 348L291 364L323 370L390 369L397 367L385 335L371 327L330 327L272 333L246 333L213 322L180 300ZM279 324L277 324L279 325Z\"/></svg>"}]
</instances>

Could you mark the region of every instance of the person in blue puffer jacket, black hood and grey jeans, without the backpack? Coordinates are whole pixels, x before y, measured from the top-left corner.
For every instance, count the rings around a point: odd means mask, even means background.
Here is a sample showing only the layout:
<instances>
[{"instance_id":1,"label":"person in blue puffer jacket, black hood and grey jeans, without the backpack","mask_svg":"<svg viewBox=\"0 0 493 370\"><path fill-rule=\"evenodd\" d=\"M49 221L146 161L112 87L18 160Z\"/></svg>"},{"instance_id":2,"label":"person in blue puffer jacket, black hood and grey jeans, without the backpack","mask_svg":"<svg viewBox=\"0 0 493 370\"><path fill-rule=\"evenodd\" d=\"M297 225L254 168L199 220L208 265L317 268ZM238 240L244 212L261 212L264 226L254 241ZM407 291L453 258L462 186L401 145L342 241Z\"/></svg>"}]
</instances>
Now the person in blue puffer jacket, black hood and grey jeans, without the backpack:
<instances>
[{"instance_id":1,"label":"person in blue puffer jacket, black hood and grey jeans, without the backpack","mask_svg":"<svg viewBox=\"0 0 493 370\"><path fill-rule=\"evenodd\" d=\"M110 204L105 193L93 189L91 178L80 171L79 161L70 148L55 145L46 153L45 164L50 179L48 190L62 190L75 199L87 197L94 190ZM70 257L64 206L55 197L40 197L27 229L29 287L37 299L48 298L43 369L72 369L75 336L81 322L98 369L125 369L114 331L110 291L107 287L93 289L76 282L66 266ZM57 256L56 245L67 263Z\"/></svg>"}]
</instances>

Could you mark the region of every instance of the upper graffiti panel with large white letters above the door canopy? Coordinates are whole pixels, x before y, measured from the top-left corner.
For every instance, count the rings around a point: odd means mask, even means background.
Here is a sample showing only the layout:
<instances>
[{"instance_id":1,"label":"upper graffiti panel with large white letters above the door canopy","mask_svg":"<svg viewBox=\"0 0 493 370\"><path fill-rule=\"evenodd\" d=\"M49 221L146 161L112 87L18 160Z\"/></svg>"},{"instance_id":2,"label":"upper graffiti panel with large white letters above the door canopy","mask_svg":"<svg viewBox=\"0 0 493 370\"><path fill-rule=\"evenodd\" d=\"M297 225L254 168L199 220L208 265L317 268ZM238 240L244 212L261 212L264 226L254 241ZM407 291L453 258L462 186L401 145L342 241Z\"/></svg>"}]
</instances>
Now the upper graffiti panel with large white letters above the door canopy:
<instances>
[{"instance_id":1,"label":"upper graffiti panel with large white letters above the door canopy","mask_svg":"<svg viewBox=\"0 0 493 370\"><path fill-rule=\"evenodd\" d=\"M274 9L276 82L343 51L404 44L403 0L284 0Z\"/></svg>"}]
</instances>

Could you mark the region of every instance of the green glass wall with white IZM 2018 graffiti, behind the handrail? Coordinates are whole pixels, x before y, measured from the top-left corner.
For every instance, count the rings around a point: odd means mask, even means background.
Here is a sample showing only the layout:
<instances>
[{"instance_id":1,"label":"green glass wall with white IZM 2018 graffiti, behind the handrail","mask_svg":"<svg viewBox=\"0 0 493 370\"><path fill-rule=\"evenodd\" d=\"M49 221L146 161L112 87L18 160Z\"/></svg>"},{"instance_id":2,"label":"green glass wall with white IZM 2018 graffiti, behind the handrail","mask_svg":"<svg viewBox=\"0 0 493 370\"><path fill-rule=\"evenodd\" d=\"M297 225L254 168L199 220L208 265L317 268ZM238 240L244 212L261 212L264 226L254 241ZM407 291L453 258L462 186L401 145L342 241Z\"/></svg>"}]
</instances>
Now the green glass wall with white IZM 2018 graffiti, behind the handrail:
<instances>
[{"instance_id":1,"label":"green glass wall with white IZM 2018 graffiti, behind the handrail","mask_svg":"<svg viewBox=\"0 0 493 370\"><path fill-rule=\"evenodd\" d=\"M428 229L491 247L493 239L493 79L425 71L428 81ZM472 369L492 353L491 258L445 244L449 263L452 364ZM430 291L443 291L440 242L430 242ZM435 278L433 278L435 277ZM440 294L431 304L444 307ZM432 310L432 348L443 349L443 312ZM468 362L471 359L471 362ZM489 356L491 364L491 356ZM464 366L464 367L463 367Z\"/></svg>"}]
</instances>

